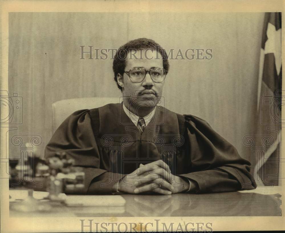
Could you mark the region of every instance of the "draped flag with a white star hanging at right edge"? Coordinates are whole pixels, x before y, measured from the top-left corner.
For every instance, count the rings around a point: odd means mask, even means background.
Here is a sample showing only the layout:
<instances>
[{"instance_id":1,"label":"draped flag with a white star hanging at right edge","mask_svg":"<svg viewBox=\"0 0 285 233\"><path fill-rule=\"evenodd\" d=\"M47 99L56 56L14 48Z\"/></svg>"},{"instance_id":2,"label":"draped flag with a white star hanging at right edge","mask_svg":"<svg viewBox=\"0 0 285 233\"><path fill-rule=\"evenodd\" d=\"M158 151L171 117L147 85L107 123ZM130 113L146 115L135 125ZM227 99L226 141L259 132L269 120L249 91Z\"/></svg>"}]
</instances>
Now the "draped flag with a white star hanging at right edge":
<instances>
[{"instance_id":1,"label":"draped flag with a white star hanging at right edge","mask_svg":"<svg viewBox=\"0 0 285 233\"><path fill-rule=\"evenodd\" d=\"M280 185L282 106L281 13L265 13L260 49L257 94L257 131L252 154L258 186ZM253 153L253 152L252 152Z\"/></svg>"}]
</instances>

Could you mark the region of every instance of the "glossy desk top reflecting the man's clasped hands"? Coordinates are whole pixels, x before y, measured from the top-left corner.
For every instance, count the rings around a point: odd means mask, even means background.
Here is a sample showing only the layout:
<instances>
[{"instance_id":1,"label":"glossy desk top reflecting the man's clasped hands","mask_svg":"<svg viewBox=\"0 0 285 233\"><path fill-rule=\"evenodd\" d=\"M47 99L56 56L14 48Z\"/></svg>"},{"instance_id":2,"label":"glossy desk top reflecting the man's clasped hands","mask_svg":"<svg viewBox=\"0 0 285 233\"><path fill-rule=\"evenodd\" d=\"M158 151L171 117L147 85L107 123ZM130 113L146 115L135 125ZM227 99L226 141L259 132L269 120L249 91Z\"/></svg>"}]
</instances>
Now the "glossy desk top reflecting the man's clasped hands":
<instances>
[{"instance_id":1,"label":"glossy desk top reflecting the man's clasped hands","mask_svg":"<svg viewBox=\"0 0 285 233\"><path fill-rule=\"evenodd\" d=\"M117 207L67 207L56 204L49 212L23 213L10 217L112 217L112 216L281 216L280 187L211 194L121 195L126 203ZM96 201L96 196L94 201ZM72 198L72 196L71 196ZM12 207L12 208L11 208Z\"/></svg>"}]
</instances>

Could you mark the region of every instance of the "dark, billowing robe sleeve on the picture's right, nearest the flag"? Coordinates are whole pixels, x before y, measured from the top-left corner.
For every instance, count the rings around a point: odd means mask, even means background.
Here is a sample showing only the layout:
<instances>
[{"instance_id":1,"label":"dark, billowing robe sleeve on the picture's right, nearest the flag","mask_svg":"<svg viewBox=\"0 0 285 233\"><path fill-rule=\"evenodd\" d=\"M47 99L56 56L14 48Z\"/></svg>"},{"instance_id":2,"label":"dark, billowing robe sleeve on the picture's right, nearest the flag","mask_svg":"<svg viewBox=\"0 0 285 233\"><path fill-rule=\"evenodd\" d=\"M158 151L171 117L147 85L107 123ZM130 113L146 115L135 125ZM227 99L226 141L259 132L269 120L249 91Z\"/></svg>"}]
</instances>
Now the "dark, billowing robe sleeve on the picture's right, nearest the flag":
<instances>
[{"instance_id":1,"label":"dark, billowing robe sleeve on the picture's right, nearest the flag","mask_svg":"<svg viewBox=\"0 0 285 233\"><path fill-rule=\"evenodd\" d=\"M184 115L189 173L181 174L198 184L197 193L230 192L254 189L251 163L239 156L227 142L201 118Z\"/></svg>"}]
</instances>

